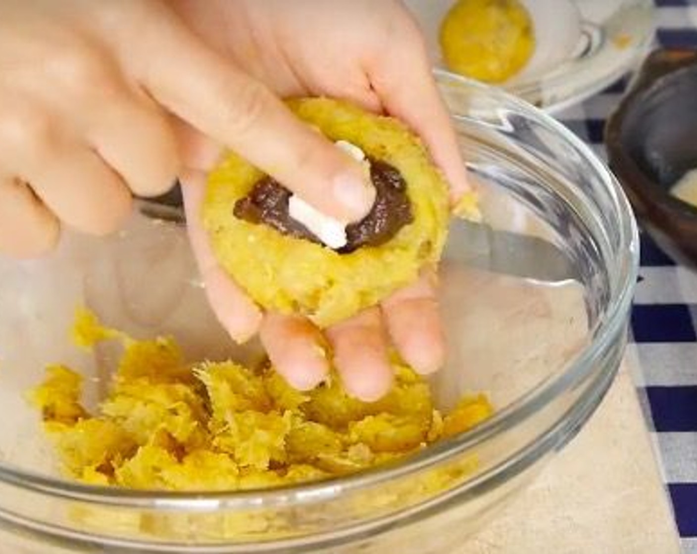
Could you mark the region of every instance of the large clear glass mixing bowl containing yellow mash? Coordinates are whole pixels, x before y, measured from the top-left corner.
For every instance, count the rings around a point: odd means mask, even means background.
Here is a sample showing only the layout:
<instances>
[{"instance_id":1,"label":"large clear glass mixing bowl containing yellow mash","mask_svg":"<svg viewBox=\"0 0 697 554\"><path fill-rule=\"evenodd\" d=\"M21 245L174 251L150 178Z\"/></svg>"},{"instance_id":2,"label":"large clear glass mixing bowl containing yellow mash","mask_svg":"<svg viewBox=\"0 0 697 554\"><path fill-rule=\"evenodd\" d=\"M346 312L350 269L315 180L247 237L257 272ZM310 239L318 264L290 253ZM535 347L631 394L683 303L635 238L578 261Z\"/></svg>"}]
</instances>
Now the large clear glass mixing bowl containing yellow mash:
<instances>
[{"instance_id":1,"label":"large clear glass mixing bowl containing yellow mash","mask_svg":"<svg viewBox=\"0 0 697 554\"><path fill-rule=\"evenodd\" d=\"M215 322L182 226L146 217L162 210L141 204L117 236L66 236L47 259L0 261L0 544L27 553L451 552L579 431L625 344L638 259L627 201L548 116L464 79L438 81L487 224L452 227L441 291L450 359L434 390L445 406L484 390L495 417L404 463L271 491L155 493L61 479L24 393L45 364L63 362L82 369L91 401L103 394L113 353L70 344L76 305L139 337L174 334L191 357L259 354L231 346Z\"/></svg>"}]
</instances>

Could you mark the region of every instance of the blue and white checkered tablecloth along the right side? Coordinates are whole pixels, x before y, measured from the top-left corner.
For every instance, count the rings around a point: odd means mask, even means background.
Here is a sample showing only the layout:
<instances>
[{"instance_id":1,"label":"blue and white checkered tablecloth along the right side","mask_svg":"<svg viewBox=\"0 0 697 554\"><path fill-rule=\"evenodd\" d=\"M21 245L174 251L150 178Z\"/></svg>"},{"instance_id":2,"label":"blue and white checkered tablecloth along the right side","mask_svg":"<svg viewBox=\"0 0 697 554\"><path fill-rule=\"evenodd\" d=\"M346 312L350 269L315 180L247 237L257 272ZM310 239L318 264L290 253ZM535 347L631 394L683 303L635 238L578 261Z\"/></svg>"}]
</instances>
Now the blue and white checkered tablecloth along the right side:
<instances>
[{"instance_id":1,"label":"blue and white checkered tablecloth along the right side","mask_svg":"<svg viewBox=\"0 0 697 554\"><path fill-rule=\"evenodd\" d=\"M666 47L697 47L697 0L654 1L657 42ZM604 120L624 90L623 80L558 115L603 159ZM645 233L641 249L629 367L683 551L697 554L697 272L677 265Z\"/></svg>"}]
</instances>

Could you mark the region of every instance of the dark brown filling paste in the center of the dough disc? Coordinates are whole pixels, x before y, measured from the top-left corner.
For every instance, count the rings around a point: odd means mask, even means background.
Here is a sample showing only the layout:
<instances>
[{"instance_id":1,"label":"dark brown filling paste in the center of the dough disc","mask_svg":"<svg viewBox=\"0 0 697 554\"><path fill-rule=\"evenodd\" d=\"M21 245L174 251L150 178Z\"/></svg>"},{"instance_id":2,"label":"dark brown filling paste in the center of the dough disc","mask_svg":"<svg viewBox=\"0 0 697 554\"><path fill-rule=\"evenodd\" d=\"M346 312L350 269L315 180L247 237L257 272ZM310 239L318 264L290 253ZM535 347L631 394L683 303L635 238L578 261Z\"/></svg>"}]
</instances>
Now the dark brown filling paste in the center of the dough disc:
<instances>
[{"instance_id":1,"label":"dark brown filling paste in the center of the dough disc","mask_svg":"<svg viewBox=\"0 0 697 554\"><path fill-rule=\"evenodd\" d=\"M376 200L370 213L360 222L346 226L346 245L337 250L342 254L362 246L380 246L413 221L406 183L399 171L386 162L369 161ZM288 189L266 176L257 181L246 197L235 203L233 213L240 220L263 223L284 235L322 244L305 225L291 218L288 211L290 197Z\"/></svg>"}]
</instances>

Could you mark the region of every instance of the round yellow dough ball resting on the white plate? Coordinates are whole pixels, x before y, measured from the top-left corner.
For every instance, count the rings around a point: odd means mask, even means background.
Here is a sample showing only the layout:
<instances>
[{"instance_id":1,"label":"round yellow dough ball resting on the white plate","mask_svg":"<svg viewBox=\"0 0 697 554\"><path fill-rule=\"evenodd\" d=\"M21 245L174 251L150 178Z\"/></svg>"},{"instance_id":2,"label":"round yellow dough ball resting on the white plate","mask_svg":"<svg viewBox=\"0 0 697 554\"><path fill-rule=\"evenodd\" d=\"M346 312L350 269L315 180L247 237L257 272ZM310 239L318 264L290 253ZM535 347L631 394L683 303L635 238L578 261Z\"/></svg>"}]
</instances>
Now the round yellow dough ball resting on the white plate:
<instances>
[{"instance_id":1,"label":"round yellow dough ball resting on the white plate","mask_svg":"<svg viewBox=\"0 0 697 554\"><path fill-rule=\"evenodd\" d=\"M535 49L533 21L518 0L459 0L440 38L448 68L490 83L519 72Z\"/></svg>"}]
</instances>

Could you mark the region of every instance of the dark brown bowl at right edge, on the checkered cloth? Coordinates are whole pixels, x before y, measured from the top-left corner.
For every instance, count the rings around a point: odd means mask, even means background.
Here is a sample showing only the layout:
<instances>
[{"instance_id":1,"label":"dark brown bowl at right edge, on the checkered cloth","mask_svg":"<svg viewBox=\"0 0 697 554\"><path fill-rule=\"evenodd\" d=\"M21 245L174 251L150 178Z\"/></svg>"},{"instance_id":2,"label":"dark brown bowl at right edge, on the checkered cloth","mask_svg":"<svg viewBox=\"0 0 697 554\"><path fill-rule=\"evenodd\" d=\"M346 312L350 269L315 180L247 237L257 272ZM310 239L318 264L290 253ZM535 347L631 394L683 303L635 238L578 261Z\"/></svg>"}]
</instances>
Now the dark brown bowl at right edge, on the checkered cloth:
<instances>
[{"instance_id":1,"label":"dark brown bowl at right edge, on the checkered cloth","mask_svg":"<svg viewBox=\"0 0 697 554\"><path fill-rule=\"evenodd\" d=\"M638 219L681 261L697 263L697 208L669 194L697 168L697 50L659 49L646 59L605 143L611 169Z\"/></svg>"}]
</instances>

